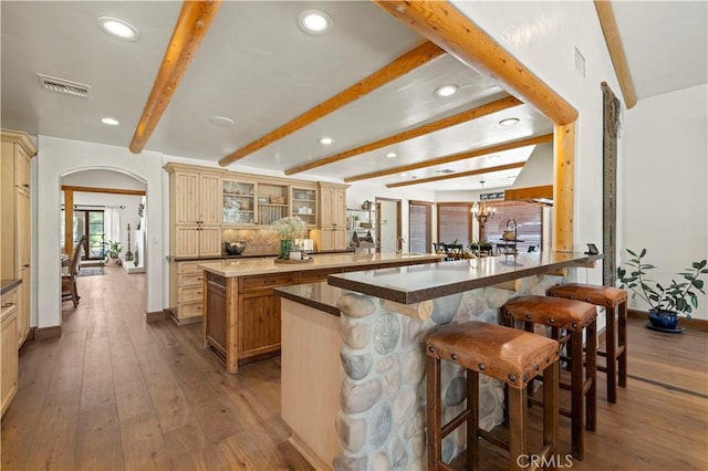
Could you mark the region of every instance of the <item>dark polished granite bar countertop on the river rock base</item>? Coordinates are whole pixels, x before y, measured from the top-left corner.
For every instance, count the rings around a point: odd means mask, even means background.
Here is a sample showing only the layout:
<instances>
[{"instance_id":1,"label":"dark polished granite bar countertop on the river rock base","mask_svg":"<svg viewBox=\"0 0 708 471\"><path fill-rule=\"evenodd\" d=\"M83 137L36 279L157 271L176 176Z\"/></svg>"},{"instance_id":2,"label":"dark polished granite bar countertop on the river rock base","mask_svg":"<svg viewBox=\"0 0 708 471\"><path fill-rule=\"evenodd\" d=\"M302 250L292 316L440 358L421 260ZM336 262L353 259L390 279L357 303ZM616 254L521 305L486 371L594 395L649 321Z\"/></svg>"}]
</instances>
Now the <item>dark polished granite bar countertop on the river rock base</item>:
<instances>
[{"instance_id":1,"label":"dark polished granite bar countertop on the river rock base","mask_svg":"<svg viewBox=\"0 0 708 471\"><path fill-rule=\"evenodd\" d=\"M535 252L519 255L331 274L327 283L402 304L461 293L539 273L601 260L583 253Z\"/></svg>"}]
</instances>

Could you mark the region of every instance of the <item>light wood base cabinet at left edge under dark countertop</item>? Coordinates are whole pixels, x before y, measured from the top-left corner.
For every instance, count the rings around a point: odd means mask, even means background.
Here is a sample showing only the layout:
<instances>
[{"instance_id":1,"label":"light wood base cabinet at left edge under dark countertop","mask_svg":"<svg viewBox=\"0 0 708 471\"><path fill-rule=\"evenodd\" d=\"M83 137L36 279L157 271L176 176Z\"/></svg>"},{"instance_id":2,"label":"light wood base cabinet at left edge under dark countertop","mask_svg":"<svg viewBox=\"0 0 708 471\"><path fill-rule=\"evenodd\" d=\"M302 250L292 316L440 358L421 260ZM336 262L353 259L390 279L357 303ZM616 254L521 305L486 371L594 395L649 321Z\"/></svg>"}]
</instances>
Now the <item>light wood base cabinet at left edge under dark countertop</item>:
<instances>
[{"instance_id":1,"label":"light wood base cabinet at left edge under dark countertop","mask_svg":"<svg viewBox=\"0 0 708 471\"><path fill-rule=\"evenodd\" d=\"M18 305L17 291L2 295L0 318L0 405L2 415L18 391Z\"/></svg>"}]
</instances>

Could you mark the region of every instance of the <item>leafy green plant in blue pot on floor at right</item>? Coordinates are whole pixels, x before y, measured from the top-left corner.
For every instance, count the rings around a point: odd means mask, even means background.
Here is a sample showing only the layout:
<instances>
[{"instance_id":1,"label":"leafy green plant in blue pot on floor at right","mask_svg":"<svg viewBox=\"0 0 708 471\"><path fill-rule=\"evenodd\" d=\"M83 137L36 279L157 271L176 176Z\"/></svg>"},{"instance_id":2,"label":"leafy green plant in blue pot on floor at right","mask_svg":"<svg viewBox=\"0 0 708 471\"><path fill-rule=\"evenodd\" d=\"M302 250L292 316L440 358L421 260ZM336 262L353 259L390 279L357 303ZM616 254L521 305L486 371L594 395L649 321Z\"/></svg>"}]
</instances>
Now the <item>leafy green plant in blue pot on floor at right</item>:
<instances>
[{"instance_id":1,"label":"leafy green plant in blue pot on floor at right","mask_svg":"<svg viewBox=\"0 0 708 471\"><path fill-rule=\"evenodd\" d=\"M629 273L622 266L617 268L617 280L620 287L632 291L632 297L639 296L649 305L649 322L657 329L668 332L679 332L677 329L678 315L685 314L690 318L690 313L698 307L698 295L696 292L706 294L704 291L704 281L700 275L708 273L706 260L693 262L689 269L677 273L683 281L671 280L667 286L649 280L647 271L654 270L650 263L644 262L646 249L637 254L627 249L632 259L626 262Z\"/></svg>"}]
</instances>

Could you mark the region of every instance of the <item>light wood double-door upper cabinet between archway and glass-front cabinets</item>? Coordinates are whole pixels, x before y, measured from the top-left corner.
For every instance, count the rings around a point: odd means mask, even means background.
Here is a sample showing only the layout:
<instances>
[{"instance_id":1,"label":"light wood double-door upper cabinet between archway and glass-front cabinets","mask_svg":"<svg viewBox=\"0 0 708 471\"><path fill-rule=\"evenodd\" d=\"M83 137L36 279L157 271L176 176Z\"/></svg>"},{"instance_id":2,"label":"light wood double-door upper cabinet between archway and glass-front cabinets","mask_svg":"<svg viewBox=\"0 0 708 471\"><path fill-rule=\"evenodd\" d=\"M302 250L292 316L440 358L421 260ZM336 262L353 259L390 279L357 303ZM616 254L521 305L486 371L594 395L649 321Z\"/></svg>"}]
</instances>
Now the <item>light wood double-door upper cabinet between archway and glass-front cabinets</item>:
<instances>
[{"instance_id":1,"label":"light wood double-door upper cabinet between archway and glass-front cabinets","mask_svg":"<svg viewBox=\"0 0 708 471\"><path fill-rule=\"evenodd\" d=\"M170 254L221 254L221 174L168 164Z\"/></svg>"}]
</instances>

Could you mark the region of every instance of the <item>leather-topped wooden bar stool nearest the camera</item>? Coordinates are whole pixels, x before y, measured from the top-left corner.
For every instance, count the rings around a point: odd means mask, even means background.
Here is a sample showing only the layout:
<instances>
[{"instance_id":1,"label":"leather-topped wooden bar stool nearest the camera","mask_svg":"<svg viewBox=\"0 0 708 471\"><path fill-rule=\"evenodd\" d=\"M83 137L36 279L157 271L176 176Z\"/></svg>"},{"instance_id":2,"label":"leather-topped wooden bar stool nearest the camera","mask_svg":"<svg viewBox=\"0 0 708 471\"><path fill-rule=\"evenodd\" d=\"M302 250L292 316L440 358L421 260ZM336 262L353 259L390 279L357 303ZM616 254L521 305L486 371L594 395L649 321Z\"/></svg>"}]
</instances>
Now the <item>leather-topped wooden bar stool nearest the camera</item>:
<instances>
[{"instance_id":1,"label":"leather-topped wooden bar stool nearest the camera","mask_svg":"<svg viewBox=\"0 0 708 471\"><path fill-rule=\"evenodd\" d=\"M442 461L442 439L467 422L467 469L479 469L481 437L509 450L509 469L529 468L525 390L543 371L543 447L541 462L553 463L558 448L559 343L501 325L468 322L442 327L426 341L428 354L428 470L450 470ZM440 359L467 368L466 409L441 423ZM509 443L479 428L479 374L509 385ZM525 457L525 458L524 458Z\"/></svg>"}]
</instances>

